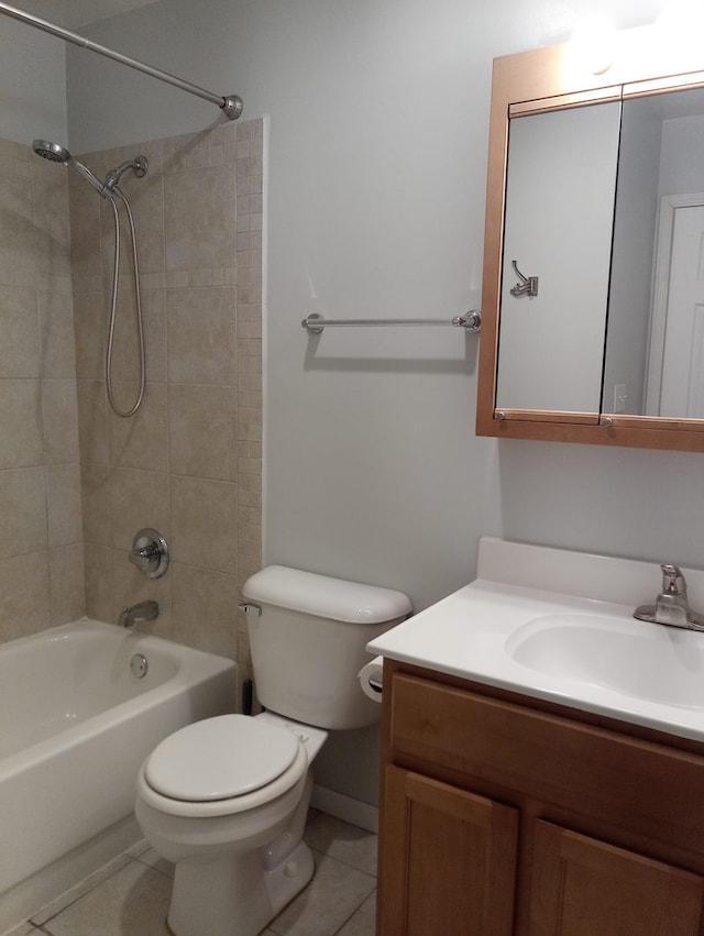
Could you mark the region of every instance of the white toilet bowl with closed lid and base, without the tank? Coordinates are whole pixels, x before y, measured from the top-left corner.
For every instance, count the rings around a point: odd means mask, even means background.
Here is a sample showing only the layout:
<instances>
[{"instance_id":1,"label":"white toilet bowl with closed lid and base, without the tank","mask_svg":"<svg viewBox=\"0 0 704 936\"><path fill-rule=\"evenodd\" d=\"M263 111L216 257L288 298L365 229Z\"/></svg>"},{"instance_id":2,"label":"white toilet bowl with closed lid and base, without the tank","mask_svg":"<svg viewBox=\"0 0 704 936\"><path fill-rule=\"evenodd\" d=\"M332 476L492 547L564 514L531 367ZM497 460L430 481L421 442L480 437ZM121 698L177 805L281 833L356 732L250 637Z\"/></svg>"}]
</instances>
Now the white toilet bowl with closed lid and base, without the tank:
<instances>
[{"instance_id":1,"label":"white toilet bowl with closed lid and base, without the tank","mask_svg":"<svg viewBox=\"0 0 704 936\"><path fill-rule=\"evenodd\" d=\"M177 936L253 936L308 883L308 768L326 737L271 713L221 715L182 728L144 761L135 815L175 865Z\"/></svg>"}]
</instances>

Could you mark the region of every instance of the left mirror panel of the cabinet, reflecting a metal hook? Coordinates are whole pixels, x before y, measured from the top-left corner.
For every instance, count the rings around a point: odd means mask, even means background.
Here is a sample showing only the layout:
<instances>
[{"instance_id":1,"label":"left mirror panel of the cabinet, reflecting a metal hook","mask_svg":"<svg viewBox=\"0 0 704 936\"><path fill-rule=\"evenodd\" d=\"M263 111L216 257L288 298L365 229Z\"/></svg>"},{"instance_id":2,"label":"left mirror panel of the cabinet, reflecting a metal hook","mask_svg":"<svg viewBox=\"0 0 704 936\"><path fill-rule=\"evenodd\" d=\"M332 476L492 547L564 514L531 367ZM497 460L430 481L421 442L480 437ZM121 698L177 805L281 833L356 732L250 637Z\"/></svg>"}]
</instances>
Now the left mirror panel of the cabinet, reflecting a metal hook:
<instances>
[{"instance_id":1,"label":"left mirror panel of the cabinet, reflecting a metal hook","mask_svg":"<svg viewBox=\"0 0 704 936\"><path fill-rule=\"evenodd\" d=\"M620 103L509 123L496 406L594 414L602 392ZM537 274L528 295L519 278Z\"/></svg>"}]
</instances>

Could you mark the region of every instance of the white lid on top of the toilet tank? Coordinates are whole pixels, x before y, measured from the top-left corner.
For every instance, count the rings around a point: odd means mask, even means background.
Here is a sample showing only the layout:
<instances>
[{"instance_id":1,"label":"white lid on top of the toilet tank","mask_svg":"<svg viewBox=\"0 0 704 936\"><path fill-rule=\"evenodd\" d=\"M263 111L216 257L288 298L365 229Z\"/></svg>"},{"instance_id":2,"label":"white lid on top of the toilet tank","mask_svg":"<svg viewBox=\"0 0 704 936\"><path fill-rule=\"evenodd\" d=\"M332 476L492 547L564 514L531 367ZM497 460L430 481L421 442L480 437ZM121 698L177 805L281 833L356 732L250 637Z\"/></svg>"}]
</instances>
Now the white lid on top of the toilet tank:
<instances>
[{"instance_id":1,"label":"white lid on top of the toilet tank","mask_svg":"<svg viewBox=\"0 0 704 936\"><path fill-rule=\"evenodd\" d=\"M346 624L383 624L406 617L410 598L394 588L364 585L304 572L287 565L267 565L251 575L242 588L245 598Z\"/></svg>"}]
</instances>

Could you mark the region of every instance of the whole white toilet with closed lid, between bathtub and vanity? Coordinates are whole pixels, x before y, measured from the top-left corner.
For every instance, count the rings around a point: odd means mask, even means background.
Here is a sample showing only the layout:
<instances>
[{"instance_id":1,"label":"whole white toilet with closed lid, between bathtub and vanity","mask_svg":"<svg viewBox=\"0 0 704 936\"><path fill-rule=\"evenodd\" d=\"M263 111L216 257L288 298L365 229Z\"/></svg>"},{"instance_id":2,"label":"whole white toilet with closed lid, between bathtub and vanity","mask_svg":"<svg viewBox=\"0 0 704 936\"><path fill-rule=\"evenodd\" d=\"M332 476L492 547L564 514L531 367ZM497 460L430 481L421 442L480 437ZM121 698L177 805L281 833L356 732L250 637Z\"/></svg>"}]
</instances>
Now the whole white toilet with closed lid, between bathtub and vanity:
<instances>
[{"instance_id":1,"label":"whole white toilet with closed lid, between bathtub and vanity","mask_svg":"<svg viewBox=\"0 0 704 936\"><path fill-rule=\"evenodd\" d=\"M370 640L411 610L402 592L270 565L243 587L254 717L170 735L138 778L135 815L174 862L175 936L257 936L312 877L310 764L329 730L374 724L358 674Z\"/></svg>"}]
</instances>

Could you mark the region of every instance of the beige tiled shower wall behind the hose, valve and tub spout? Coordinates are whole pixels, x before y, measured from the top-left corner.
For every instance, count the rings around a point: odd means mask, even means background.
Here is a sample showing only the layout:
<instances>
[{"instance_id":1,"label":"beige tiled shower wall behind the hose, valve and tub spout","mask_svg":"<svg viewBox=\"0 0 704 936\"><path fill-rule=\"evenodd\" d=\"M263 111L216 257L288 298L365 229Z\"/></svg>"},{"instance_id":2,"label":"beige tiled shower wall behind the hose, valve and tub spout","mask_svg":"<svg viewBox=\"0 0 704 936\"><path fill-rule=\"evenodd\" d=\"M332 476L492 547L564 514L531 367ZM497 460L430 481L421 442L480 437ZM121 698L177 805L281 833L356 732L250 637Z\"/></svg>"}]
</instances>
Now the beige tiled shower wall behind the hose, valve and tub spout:
<instances>
[{"instance_id":1,"label":"beige tiled shower wall behind the hose, valve and tub spout","mask_svg":"<svg viewBox=\"0 0 704 936\"><path fill-rule=\"evenodd\" d=\"M146 176L128 172L121 185L138 231L146 393L130 419L108 407L102 381L112 211L69 177L87 613L114 621L124 605L155 598L160 617L142 629L246 667L237 604L261 563L263 122L85 161L102 177L138 154ZM124 229L121 241L129 273ZM123 274L113 370L122 408L136 394L133 309ZM169 544L163 579L128 560L143 527Z\"/></svg>"}]
</instances>

